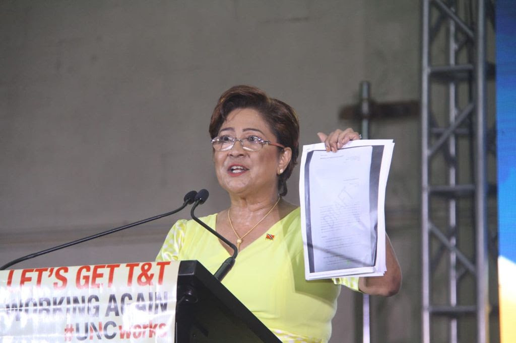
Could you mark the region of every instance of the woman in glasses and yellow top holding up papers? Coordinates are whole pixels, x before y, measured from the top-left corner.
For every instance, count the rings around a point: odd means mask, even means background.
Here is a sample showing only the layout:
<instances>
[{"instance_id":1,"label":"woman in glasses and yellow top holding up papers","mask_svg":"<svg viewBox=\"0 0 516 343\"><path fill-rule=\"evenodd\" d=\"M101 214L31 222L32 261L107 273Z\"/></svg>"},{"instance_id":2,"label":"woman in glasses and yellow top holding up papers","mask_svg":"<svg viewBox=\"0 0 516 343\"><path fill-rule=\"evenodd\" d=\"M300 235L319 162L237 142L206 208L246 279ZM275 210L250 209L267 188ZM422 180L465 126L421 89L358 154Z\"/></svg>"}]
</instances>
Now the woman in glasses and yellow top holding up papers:
<instances>
[{"instance_id":1,"label":"woman in glasses and yellow top holding up papers","mask_svg":"<svg viewBox=\"0 0 516 343\"><path fill-rule=\"evenodd\" d=\"M219 98L209 134L215 173L231 205L201 219L239 250L222 283L281 340L327 341L341 284L367 294L397 293L401 272L388 237L384 276L304 279L300 209L282 198L299 154L294 109L257 88L235 86ZM360 137L352 129L318 135L328 152ZM179 220L157 260L199 260L214 273L231 253L193 220Z\"/></svg>"}]
</instances>

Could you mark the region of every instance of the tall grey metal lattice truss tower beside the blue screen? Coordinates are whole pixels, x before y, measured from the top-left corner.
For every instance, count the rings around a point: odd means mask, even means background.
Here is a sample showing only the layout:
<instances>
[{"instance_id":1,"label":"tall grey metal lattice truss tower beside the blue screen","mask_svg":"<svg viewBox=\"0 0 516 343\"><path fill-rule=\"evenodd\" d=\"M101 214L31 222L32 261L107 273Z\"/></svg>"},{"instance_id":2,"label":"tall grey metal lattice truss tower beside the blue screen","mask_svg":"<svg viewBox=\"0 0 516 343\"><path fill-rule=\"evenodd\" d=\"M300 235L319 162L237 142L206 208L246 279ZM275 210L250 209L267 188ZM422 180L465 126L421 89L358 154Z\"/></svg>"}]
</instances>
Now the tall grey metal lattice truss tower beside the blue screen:
<instances>
[{"instance_id":1,"label":"tall grey metal lattice truss tower beside the blue screen","mask_svg":"<svg viewBox=\"0 0 516 343\"><path fill-rule=\"evenodd\" d=\"M422 0L422 341L489 341L489 0ZM476 331L475 331L476 330Z\"/></svg>"}]
</instances>

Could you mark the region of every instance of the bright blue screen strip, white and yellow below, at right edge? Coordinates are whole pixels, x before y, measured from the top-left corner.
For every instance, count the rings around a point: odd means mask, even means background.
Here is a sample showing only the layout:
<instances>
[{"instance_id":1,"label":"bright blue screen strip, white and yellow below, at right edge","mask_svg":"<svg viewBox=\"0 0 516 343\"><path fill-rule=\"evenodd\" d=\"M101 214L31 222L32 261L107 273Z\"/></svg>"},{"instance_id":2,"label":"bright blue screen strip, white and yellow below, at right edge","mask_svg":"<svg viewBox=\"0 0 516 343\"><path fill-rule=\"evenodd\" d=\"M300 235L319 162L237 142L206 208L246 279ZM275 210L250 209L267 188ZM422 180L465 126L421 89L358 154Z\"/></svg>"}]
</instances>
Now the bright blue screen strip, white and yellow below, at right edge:
<instances>
[{"instance_id":1,"label":"bright blue screen strip, white and yellow below, at right edge","mask_svg":"<svg viewBox=\"0 0 516 343\"><path fill-rule=\"evenodd\" d=\"M496 3L496 151L500 338L516 341L516 1Z\"/></svg>"}]
</instances>

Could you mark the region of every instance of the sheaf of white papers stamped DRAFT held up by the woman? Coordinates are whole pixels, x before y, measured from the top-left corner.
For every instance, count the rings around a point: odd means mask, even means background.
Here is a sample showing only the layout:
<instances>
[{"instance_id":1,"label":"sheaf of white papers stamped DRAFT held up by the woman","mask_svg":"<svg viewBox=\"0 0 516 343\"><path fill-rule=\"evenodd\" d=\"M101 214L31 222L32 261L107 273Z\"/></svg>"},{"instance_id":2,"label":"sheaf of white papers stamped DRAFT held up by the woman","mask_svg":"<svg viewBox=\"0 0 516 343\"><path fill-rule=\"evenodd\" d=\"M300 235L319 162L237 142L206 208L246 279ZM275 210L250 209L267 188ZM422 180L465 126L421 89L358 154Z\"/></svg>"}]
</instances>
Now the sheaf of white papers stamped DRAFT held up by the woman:
<instances>
[{"instance_id":1,"label":"sheaf of white papers stamped DRAFT held up by the woman","mask_svg":"<svg viewBox=\"0 0 516 343\"><path fill-rule=\"evenodd\" d=\"M385 272L385 185L392 140L351 141L337 152L304 145L299 195L307 280Z\"/></svg>"}]
</instances>

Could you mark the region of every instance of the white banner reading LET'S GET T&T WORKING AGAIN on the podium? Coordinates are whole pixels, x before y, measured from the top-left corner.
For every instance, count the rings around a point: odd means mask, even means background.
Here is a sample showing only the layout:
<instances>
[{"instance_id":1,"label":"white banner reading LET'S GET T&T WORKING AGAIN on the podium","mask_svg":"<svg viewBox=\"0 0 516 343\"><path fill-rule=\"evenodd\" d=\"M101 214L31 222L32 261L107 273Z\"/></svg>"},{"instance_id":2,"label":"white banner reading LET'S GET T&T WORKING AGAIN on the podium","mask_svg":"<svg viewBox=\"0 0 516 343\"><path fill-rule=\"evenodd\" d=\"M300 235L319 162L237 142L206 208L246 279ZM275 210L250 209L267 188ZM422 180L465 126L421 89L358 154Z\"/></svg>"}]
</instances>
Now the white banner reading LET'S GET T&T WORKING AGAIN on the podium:
<instances>
[{"instance_id":1,"label":"white banner reading LET'S GET T&T WORKING AGAIN on the podium","mask_svg":"<svg viewBox=\"0 0 516 343\"><path fill-rule=\"evenodd\" d=\"M0 271L0 340L173 342L179 262Z\"/></svg>"}]
</instances>

